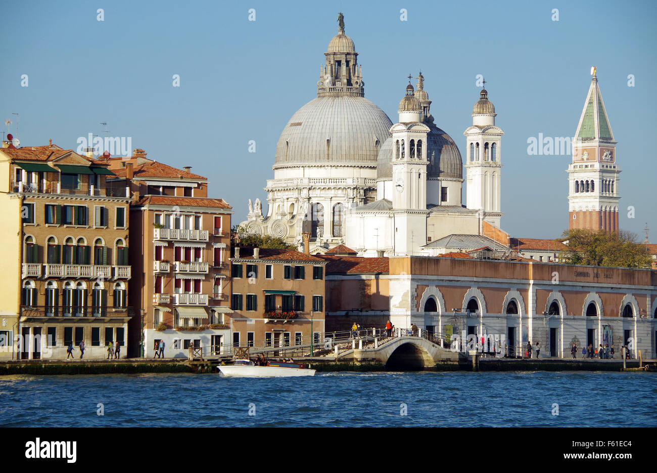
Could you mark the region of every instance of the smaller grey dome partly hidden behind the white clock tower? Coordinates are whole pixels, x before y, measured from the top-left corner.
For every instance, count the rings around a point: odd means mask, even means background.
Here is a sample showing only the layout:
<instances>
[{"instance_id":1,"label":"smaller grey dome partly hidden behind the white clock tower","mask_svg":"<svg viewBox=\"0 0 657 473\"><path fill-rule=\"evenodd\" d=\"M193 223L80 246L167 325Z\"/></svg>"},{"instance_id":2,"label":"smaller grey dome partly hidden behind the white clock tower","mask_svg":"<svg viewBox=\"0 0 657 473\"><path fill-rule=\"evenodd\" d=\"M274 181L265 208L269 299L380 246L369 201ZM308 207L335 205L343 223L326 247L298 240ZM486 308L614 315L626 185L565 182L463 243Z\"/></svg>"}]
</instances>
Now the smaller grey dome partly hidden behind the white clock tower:
<instances>
[{"instance_id":1,"label":"smaller grey dome partly hidden behind the white clock tower","mask_svg":"<svg viewBox=\"0 0 657 473\"><path fill-rule=\"evenodd\" d=\"M457 178L463 179L463 161L459 147L451 136L434 124L434 117L429 116L424 122L429 127L426 145L427 179ZM376 163L376 179L392 179L392 137L383 143Z\"/></svg>"}]
</instances>

